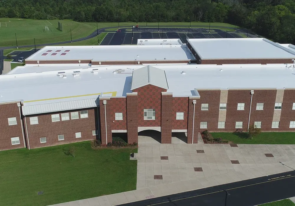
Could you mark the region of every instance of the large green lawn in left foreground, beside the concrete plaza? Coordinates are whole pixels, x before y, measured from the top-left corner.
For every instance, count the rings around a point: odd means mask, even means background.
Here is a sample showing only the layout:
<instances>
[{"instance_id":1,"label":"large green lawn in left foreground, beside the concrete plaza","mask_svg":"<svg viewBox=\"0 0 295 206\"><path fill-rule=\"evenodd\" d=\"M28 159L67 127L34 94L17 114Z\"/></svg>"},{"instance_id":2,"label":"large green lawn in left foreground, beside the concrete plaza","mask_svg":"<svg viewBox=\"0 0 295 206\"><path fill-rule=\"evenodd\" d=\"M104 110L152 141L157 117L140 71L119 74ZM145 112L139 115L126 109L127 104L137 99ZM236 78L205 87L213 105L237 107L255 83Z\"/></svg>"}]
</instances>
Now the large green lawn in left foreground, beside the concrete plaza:
<instances>
[{"instance_id":1,"label":"large green lawn in left foreground, beside the concrete plaza","mask_svg":"<svg viewBox=\"0 0 295 206\"><path fill-rule=\"evenodd\" d=\"M136 189L137 149L92 149L90 141L0 152L0 205L51 205ZM43 195L37 195L43 191Z\"/></svg>"}]
</instances>

